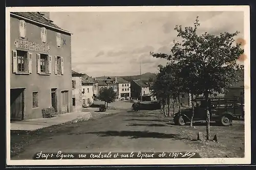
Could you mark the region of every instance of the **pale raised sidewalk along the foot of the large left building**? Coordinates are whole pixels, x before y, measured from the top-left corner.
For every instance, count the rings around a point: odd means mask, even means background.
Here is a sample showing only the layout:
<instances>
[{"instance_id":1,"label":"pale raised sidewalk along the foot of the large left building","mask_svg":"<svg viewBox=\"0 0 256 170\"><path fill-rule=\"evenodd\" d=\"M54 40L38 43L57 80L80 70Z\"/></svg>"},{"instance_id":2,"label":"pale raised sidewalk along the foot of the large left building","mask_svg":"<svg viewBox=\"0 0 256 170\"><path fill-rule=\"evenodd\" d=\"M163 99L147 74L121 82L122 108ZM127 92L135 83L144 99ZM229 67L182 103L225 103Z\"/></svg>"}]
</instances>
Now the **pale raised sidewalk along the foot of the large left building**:
<instances>
[{"instance_id":1,"label":"pale raised sidewalk along the foot of the large left building","mask_svg":"<svg viewBox=\"0 0 256 170\"><path fill-rule=\"evenodd\" d=\"M11 130L34 131L53 125L67 122L78 122L79 120L89 120L92 118L91 112L71 112L60 114L51 118L35 118L11 122Z\"/></svg>"}]
</instances>

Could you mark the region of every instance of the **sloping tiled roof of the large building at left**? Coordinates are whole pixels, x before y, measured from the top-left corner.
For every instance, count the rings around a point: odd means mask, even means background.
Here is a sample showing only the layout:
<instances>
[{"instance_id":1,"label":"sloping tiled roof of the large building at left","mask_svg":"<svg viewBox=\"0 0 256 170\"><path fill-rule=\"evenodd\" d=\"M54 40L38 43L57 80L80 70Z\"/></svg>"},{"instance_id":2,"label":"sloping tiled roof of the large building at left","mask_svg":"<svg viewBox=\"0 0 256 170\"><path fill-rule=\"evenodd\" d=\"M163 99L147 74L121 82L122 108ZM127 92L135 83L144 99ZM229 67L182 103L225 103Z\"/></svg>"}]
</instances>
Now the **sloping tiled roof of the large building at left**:
<instances>
[{"instance_id":1,"label":"sloping tiled roof of the large building at left","mask_svg":"<svg viewBox=\"0 0 256 170\"><path fill-rule=\"evenodd\" d=\"M13 15L18 15L20 17L24 17L26 19L35 21L35 22L39 22L43 25L47 25L49 27L55 28L57 30L66 32L71 34L70 32L61 29L60 27L58 27L55 23L53 23L52 20L45 18L42 14L40 14L40 12L10 12Z\"/></svg>"}]
</instances>

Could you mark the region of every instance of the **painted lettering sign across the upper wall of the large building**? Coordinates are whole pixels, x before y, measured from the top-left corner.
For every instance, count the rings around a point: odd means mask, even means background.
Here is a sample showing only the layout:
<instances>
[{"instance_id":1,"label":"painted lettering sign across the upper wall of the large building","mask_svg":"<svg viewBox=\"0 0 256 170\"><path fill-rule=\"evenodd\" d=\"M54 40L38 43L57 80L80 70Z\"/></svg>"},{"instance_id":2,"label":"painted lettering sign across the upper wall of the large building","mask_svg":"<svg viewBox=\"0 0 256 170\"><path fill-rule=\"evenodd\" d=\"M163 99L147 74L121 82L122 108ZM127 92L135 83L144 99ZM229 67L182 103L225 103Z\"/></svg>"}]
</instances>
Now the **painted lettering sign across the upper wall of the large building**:
<instances>
[{"instance_id":1,"label":"painted lettering sign across the upper wall of the large building","mask_svg":"<svg viewBox=\"0 0 256 170\"><path fill-rule=\"evenodd\" d=\"M41 44L36 42L27 41L24 39L16 39L15 47L22 50L31 50L41 53L50 53L50 46L48 44Z\"/></svg>"}]
</instances>

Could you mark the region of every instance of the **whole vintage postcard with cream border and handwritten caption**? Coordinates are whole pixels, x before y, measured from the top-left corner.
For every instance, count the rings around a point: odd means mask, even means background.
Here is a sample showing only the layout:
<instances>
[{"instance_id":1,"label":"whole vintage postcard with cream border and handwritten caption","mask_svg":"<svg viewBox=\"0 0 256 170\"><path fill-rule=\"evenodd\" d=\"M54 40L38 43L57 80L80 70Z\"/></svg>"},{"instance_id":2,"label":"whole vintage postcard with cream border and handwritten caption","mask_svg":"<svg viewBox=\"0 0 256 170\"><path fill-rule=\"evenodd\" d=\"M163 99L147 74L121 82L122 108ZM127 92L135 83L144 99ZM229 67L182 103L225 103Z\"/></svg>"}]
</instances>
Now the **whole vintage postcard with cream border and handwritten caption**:
<instances>
[{"instance_id":1,"label":"whole vintage postcard with cream border and handwritten caption","mask_svg":"<svg viewBox=\"0 0 256 170\"><path fill-rule=\"evenodd\" d=\"M250 163L249 10L6 8L7 164Z\"/></svg>"}]
</instances>

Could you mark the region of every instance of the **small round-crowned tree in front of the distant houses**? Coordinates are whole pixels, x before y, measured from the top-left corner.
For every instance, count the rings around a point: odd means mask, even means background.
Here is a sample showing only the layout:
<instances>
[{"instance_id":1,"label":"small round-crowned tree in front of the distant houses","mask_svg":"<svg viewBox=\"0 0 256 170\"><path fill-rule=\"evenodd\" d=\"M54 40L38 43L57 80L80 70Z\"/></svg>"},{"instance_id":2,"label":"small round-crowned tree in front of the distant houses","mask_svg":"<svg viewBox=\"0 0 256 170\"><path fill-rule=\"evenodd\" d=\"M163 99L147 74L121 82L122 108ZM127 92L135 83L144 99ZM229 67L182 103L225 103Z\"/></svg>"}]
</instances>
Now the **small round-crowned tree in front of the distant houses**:
<instances>
[{"instance_id":1,"label":"small round-crowned tree in front of the distant houses","mask_svg":"<svg viewBox=\"0 0 256 170\"><path fill-rule=\"evenodd\" d=\"M108 108L108 104L115 102L117 93L113 90L112 87L106 88L103 87L99 90L98 99L100 101L104 101L106 104L106 108Z\"/></svg>"}]
</instances>

